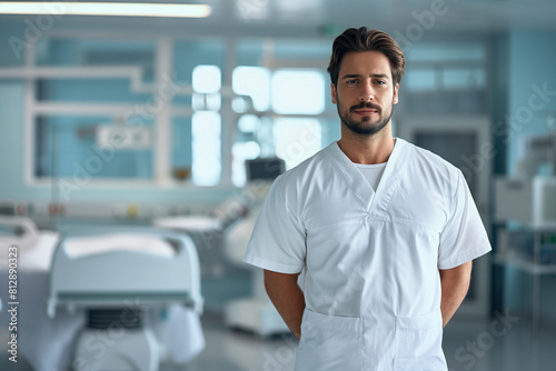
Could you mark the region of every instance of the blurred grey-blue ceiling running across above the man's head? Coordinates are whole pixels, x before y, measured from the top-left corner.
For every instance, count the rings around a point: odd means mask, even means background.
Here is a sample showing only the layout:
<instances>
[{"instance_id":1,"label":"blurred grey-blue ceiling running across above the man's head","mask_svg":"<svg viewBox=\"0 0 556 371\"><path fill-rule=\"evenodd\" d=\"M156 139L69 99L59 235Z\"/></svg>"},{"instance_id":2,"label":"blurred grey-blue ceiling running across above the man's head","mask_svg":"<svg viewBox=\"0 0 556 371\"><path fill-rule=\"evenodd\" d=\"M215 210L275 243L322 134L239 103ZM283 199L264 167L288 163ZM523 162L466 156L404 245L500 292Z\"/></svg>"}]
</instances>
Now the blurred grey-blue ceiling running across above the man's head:
<instances>
[{"instance_id":1,"label":"blurred grey-blue ceiling running across above the man's head","mask_svg":"<svg viewBox=\"0 0 556 371\"><path fill-rule=\"evenodd\" d=\"M105 0L106 1L106 0ZM131 2L130 0L119 0ZM140 0L146 1L146 0ZM150 1L153 2L153 1ZM156 0L155 2L185 2ZM57 27L121 29L179 33L254 36L336 36L345 28L367 26L411 36L485 33L510 29L556 30L554 0L198 0L208 3L207 19L71 17ZM27 16L30 17L30 16ZM32 17L32 16L31 16ZM26 17L2 16L22 21Z\"/></svg>"}]
</instances>

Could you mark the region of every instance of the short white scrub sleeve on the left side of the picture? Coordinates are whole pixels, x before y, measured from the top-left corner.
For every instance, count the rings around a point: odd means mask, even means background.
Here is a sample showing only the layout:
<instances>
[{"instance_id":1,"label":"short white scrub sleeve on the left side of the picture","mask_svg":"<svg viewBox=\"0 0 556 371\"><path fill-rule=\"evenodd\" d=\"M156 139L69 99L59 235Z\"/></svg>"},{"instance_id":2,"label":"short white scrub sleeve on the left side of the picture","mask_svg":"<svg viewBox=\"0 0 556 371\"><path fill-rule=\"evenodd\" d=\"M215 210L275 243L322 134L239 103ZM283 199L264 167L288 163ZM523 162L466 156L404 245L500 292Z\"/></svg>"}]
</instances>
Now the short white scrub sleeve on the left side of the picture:
<instances>
[{"instance_id":1,"label":"short white scrub sleeve on the left side of the picture","mask_svg":"<svg viewBox=\"0 0 556 371\"><path fill-rule=\"evenodd\" d=\"M299 273L306 255L306 231L281 189L282 177L270 187L247 245L244 261L280 273Z\"/></svg>"}]
</instances>

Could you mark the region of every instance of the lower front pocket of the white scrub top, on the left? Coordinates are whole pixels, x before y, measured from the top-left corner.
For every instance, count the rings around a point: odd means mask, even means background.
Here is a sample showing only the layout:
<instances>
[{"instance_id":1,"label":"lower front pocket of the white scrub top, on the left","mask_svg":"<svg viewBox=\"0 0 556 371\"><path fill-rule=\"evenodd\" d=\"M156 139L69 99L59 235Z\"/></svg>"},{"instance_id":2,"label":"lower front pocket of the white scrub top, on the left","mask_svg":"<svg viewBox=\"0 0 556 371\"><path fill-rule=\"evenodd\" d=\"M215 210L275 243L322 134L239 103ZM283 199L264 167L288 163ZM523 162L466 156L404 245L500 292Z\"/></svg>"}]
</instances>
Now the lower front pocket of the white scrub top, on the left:
<instances>
[{"instance_id":1,"label":"lower front pocket of the white scrub top, on the left","mask_svg":"<svg viewBox=\"0 0 556 371\"><path fill-rule=\"evenodd\" d=\"M306 309L296 371L363 371L363 322Z\"/></svg>"}]
</instances>

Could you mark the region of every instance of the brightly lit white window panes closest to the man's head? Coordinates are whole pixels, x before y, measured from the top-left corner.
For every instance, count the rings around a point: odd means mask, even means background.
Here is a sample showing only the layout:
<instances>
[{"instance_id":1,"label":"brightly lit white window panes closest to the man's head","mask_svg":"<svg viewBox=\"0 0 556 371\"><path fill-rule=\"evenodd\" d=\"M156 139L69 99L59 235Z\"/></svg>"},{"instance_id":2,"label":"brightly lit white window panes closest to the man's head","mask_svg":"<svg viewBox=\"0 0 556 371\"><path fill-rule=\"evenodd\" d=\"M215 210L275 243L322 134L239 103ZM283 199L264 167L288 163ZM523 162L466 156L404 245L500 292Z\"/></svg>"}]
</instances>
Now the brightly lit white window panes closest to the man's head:
<instances>
[{"instance_id":1,"label":"brightly lit white window panes closest to the man's head","mask_svg":"<svg viewBox=\"0 0 556 371\"><path fill-rule=\"evenodd\" d=\"M240 66L234 70L234 92L252 100L255 111L238 119L232 144L232 183L246 182L245 160L279 157L291 169L322 148L325 77L311 69L279 69ZM249 110L237 104L236 112ZM240 107L239 107L240 106ZM256 113L256 112L254 112ZM277 116L277 117L275 117ZM284 116L284 117L280 117Z\"/></svg>"}]
</instances>

